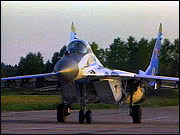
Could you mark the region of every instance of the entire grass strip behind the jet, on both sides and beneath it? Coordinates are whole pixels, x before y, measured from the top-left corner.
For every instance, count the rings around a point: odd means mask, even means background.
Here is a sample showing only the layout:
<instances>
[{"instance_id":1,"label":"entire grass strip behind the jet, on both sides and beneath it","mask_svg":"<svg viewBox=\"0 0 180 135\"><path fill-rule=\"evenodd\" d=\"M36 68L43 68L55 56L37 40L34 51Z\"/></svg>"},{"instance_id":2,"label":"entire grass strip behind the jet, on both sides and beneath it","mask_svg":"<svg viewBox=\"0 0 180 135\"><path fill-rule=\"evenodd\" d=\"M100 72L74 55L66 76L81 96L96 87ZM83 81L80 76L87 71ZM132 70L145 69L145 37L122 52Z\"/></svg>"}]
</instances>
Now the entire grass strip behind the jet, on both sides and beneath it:
<instances>
[{"instance_id":1,"label":"entire grass strip behind the jet, on both sides and beneath it","mask_svg":"<svg viewBox=\"0 0 180 135\"><path fill-rule=\"evenodd\" d=\"M61 102L58 91L37 92L26 88L8 88L1 90L1 111L54 110ZM53 95L54 94L54 95ZM144 107L177 106L179 105L179 90L159 90L154 95L149 94L142 103ZM117 109L118 105L88 104L88 109ZM80 109L79 104L73 104L72 109Z\"/></svg>"}]
</instances>

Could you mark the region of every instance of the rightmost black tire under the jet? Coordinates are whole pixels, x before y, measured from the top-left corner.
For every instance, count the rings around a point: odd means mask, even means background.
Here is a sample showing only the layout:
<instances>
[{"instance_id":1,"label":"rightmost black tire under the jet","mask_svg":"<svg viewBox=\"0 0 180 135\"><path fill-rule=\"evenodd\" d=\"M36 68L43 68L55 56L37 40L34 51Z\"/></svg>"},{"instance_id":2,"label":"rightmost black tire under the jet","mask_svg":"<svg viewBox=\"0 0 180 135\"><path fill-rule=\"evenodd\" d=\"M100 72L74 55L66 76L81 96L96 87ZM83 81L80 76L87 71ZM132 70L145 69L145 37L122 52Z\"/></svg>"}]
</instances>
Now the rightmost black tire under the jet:
<instances>
[{"instance_id":1,"label":"rightmost black tire under the jet","mask_svg":"<svg viewBox=\"0 0 180 135\"><path fill-rule=\"evenodd\" d=\"M132 107L132 119L134 124L141 123L142 110L140 105L134 105Z\"/></svg>"}]
</instances>

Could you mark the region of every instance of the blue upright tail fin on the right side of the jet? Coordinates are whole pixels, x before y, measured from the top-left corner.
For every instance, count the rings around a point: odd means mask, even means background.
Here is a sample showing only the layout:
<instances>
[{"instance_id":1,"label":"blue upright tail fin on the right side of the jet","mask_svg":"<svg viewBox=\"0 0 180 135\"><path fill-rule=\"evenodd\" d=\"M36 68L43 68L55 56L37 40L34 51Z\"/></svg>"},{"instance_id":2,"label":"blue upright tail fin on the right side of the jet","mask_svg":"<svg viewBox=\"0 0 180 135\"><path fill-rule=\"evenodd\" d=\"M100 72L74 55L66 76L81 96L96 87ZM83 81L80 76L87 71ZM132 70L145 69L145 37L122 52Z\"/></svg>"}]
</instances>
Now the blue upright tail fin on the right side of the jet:
<instances>
[{"instance_id":1,"label":"blue upright tail fin on the right side of the jet","mask_svg":"<svg viewBox=\"0 0 180 135\"><path fill-rule=\"evenodd\" d=\"M159 32L158 32L154 50L153 50L153 53L151 56L151 61L150 61L148 68L146 69L146 71L144 73L145 75L156 75L158 73L161 40L162 40L162 24L160 23Z\"/></svg>"}]
</instances>

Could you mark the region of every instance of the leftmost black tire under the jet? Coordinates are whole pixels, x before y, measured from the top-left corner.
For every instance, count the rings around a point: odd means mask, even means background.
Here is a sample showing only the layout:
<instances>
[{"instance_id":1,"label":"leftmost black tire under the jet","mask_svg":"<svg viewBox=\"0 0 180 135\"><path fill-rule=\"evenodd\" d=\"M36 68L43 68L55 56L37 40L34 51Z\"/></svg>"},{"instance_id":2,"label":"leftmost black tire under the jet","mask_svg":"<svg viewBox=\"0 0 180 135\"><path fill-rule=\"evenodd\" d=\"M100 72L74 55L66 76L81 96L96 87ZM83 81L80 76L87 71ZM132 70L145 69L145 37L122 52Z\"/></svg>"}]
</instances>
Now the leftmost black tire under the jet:
<instances>
[{"instance_id":1,"label":"leftmost black tire under the jet","mask_svg":"<svg viewBox=\"0 0 180 135\"><path fill-rule=\"evenodd\" d=\"M59 104L57 106L57 121L58 122L65 122L65 106L63 104Z\"/></svg>"}]
</instances>

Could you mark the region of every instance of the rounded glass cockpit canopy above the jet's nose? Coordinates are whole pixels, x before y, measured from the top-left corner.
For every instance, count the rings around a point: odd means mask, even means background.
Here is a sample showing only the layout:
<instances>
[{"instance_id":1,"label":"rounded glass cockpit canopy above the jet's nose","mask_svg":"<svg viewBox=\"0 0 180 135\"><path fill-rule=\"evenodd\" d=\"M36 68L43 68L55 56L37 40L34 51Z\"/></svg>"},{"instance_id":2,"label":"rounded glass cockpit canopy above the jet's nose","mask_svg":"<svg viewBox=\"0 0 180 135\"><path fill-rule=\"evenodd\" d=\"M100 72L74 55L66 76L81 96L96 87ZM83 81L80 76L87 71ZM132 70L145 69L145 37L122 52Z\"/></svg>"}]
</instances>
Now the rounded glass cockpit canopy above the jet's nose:
<instances>
[{"instance_id":1,"label":"rounded glass cockpit canopy above the jet's nose","mask_svg":"<svg viewBox=\"0 0 180 135\"><path fill-rule=\"evenodd\" d=\"M74 41L68 45L68 51L70 53L87 53L87 48L82 42Z\"/></svg>"}]
</instances>

